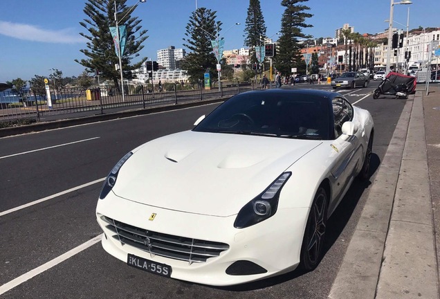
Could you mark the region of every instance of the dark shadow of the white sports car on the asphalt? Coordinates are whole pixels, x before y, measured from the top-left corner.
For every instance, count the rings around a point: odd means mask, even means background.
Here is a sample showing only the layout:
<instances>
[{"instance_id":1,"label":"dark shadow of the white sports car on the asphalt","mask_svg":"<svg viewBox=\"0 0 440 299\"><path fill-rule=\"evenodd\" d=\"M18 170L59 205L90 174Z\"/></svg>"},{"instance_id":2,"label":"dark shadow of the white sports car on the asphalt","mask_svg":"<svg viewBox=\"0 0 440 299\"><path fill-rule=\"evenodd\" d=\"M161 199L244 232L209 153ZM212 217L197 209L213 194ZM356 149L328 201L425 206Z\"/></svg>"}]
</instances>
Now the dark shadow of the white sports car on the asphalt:
<instances>
[{"instance_id":1,"label":"dark shadow of the white sports car on the asphalt","mask_svg":"<svg viewBox=\"0 0 440 299\"><path fill-rule=\"evenodd\" d=\"M356 206L358 206L358 202L365 190L367 190L372 185L372 178L374 174L376 174L379 165L381 165L381 159L377 154L372 153L372 158L370 162L370 179L367 181L360 181L355 179L355 181L351 184L351 187L345 194L345 197L339 203L338 208L333 212L333 215L327 221L327 237L324 243L322 256L327 254L331 246L335 244L340 235L342 234L342 230L347 226L349 219L354 213ZM365 203L364 203L365 204ZM363 207L359 207L360 212ZM356 226L356 224L355 224ZM350 233L349 238L351 239ZM343 256L343 255L342 255ZM318 265L319 267L319 265ZM283 275L278 275L273 278L266 278L265 280L258 280L257 282L250 282L247 284L239 284L231 287L217 287L217 289L223 289L227 291L253 291L256 289L264 289L266 287L273 287L276 284L281 284L283 282L287 282L288 280L293 280L298 278L304 274L306 271L302 269L295 269L294 271L285 273Z\"/></svg>"}]
</instances>

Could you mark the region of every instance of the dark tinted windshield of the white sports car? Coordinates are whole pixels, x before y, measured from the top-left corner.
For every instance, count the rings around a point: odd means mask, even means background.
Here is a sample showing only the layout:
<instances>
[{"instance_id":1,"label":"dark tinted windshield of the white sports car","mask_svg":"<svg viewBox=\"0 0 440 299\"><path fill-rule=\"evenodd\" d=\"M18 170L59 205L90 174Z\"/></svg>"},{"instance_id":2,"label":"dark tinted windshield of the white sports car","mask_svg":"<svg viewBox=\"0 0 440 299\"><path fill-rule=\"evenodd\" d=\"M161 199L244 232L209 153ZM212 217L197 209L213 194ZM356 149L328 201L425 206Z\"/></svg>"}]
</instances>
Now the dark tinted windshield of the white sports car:
<instances>
[{"instance_id":1,"label":"dark tinted windshield of the white sports car","mask_svg":"<svg viewBox=\"0 0 440 299\"><path fill-rule=\"evenodd\" d=\"M241 93L193 130L279 138L328 139L327 98L302 93Z\"/></svg>"}]
</instances>

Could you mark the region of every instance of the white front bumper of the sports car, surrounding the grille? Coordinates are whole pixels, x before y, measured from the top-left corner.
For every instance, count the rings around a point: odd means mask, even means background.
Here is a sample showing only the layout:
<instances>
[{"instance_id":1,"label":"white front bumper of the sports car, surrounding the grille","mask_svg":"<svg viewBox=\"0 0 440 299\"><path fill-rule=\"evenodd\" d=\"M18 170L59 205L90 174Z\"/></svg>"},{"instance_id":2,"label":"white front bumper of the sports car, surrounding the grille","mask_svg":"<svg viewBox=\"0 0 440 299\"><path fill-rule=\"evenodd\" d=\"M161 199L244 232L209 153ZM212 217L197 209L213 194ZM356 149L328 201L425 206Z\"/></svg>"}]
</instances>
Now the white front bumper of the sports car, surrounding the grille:
<instances>
[{"instance_id":1,"label":"white front bumper of the sports car, surrounding the grille","mask_svg":"<svg viewBox=\"0 0 440 299\"><path fill-rule=\"evenodd\" d=\"M98 200L96 213L98 224L104 230L102 247L119 260L127 262L127 255L132 254L172 266L172 278L226 286L260 280L295 269L300 262L309 208L279 209L273 217L254 226L239 229L234 228L236 215L214 217L166 210L120 199L110 192L105 199ZM156 217L149 220L153 213ZM218 257L208 258L206 262L201 263L152 255L135 246L122 245L118 237L112 237L115 233L109 230L107 222L102 220L102 215L145 230L221 242L228 244L229 248ZM237 261L255 263L266 269L266 273L227 274L226 269Z\"/></svg>"}]
</instances>

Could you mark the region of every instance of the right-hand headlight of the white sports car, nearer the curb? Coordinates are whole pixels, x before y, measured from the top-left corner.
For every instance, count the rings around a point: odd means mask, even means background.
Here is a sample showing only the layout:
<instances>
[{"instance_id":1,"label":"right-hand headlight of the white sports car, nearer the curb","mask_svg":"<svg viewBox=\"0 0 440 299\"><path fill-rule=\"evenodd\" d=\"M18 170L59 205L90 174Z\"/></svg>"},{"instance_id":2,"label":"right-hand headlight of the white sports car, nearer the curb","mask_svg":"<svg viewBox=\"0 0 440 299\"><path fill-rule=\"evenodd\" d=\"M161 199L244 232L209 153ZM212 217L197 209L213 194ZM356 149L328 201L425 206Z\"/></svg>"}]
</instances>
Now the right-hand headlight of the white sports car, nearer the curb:
<instances>
[{"instance_id":1,"label":"right-hand headlight of the white sports car, nearer the curb","mask_svg":"<svg viewBox=\"0 0 440 299\"><path fill-rule=\"evenodd\" d=\"M234 222L235 228L246 228L275 215L279 193L292 172L284 172L264 192L241 208Z\"/></svg>"}]
</instances>

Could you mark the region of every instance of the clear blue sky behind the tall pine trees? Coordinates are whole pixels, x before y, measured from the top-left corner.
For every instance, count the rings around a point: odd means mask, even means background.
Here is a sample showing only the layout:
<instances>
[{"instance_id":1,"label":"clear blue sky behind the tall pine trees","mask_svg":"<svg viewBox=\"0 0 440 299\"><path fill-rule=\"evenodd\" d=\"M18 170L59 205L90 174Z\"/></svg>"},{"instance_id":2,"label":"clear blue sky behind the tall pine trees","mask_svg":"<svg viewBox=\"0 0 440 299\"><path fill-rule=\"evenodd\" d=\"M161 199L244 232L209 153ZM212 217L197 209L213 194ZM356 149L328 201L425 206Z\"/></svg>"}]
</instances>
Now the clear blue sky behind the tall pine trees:
<instances>
[{"instance_id":1,"label":"clear blue sky behind the tall pine trees","mask_svg":"<svg viewBox=\"0 0 440 299\"><path fill-rule=\"evenodd\" d=\"M0 15L0 82L15 78L29 80L34 75L49 75L51 69L59 69L64 76L77 76L84 67L75 59L84 55L80 49L86 42L79 33L86 33L80 21L86 18L84 0L1 0ZM133 5L137 0L128 0ZM260 0L267 35L279 31L284 8L281 0ZM398 0L394 0L398 2ZM440 0L412 0L410 29L440 27ZM248 0L147 0L139 3L134 15L143 21L149 38L140 53L156 60L156 51L168 46L182 48L185 26L195 7L217 11L217 19L223 22L225 48L243 46L244 24ZM349 23L358 33L378 33L387 28L389 0L309 0L313 17L307 23L313 25L304 33L313 37L333 37L336 28ZM394 20L407 22L407 5L394 6ZM233 26L235 23L240 26ZM405 28L394 24L397 28ZM276 35L274 36L274 38Z\"/></svg>"}]
</instances>

